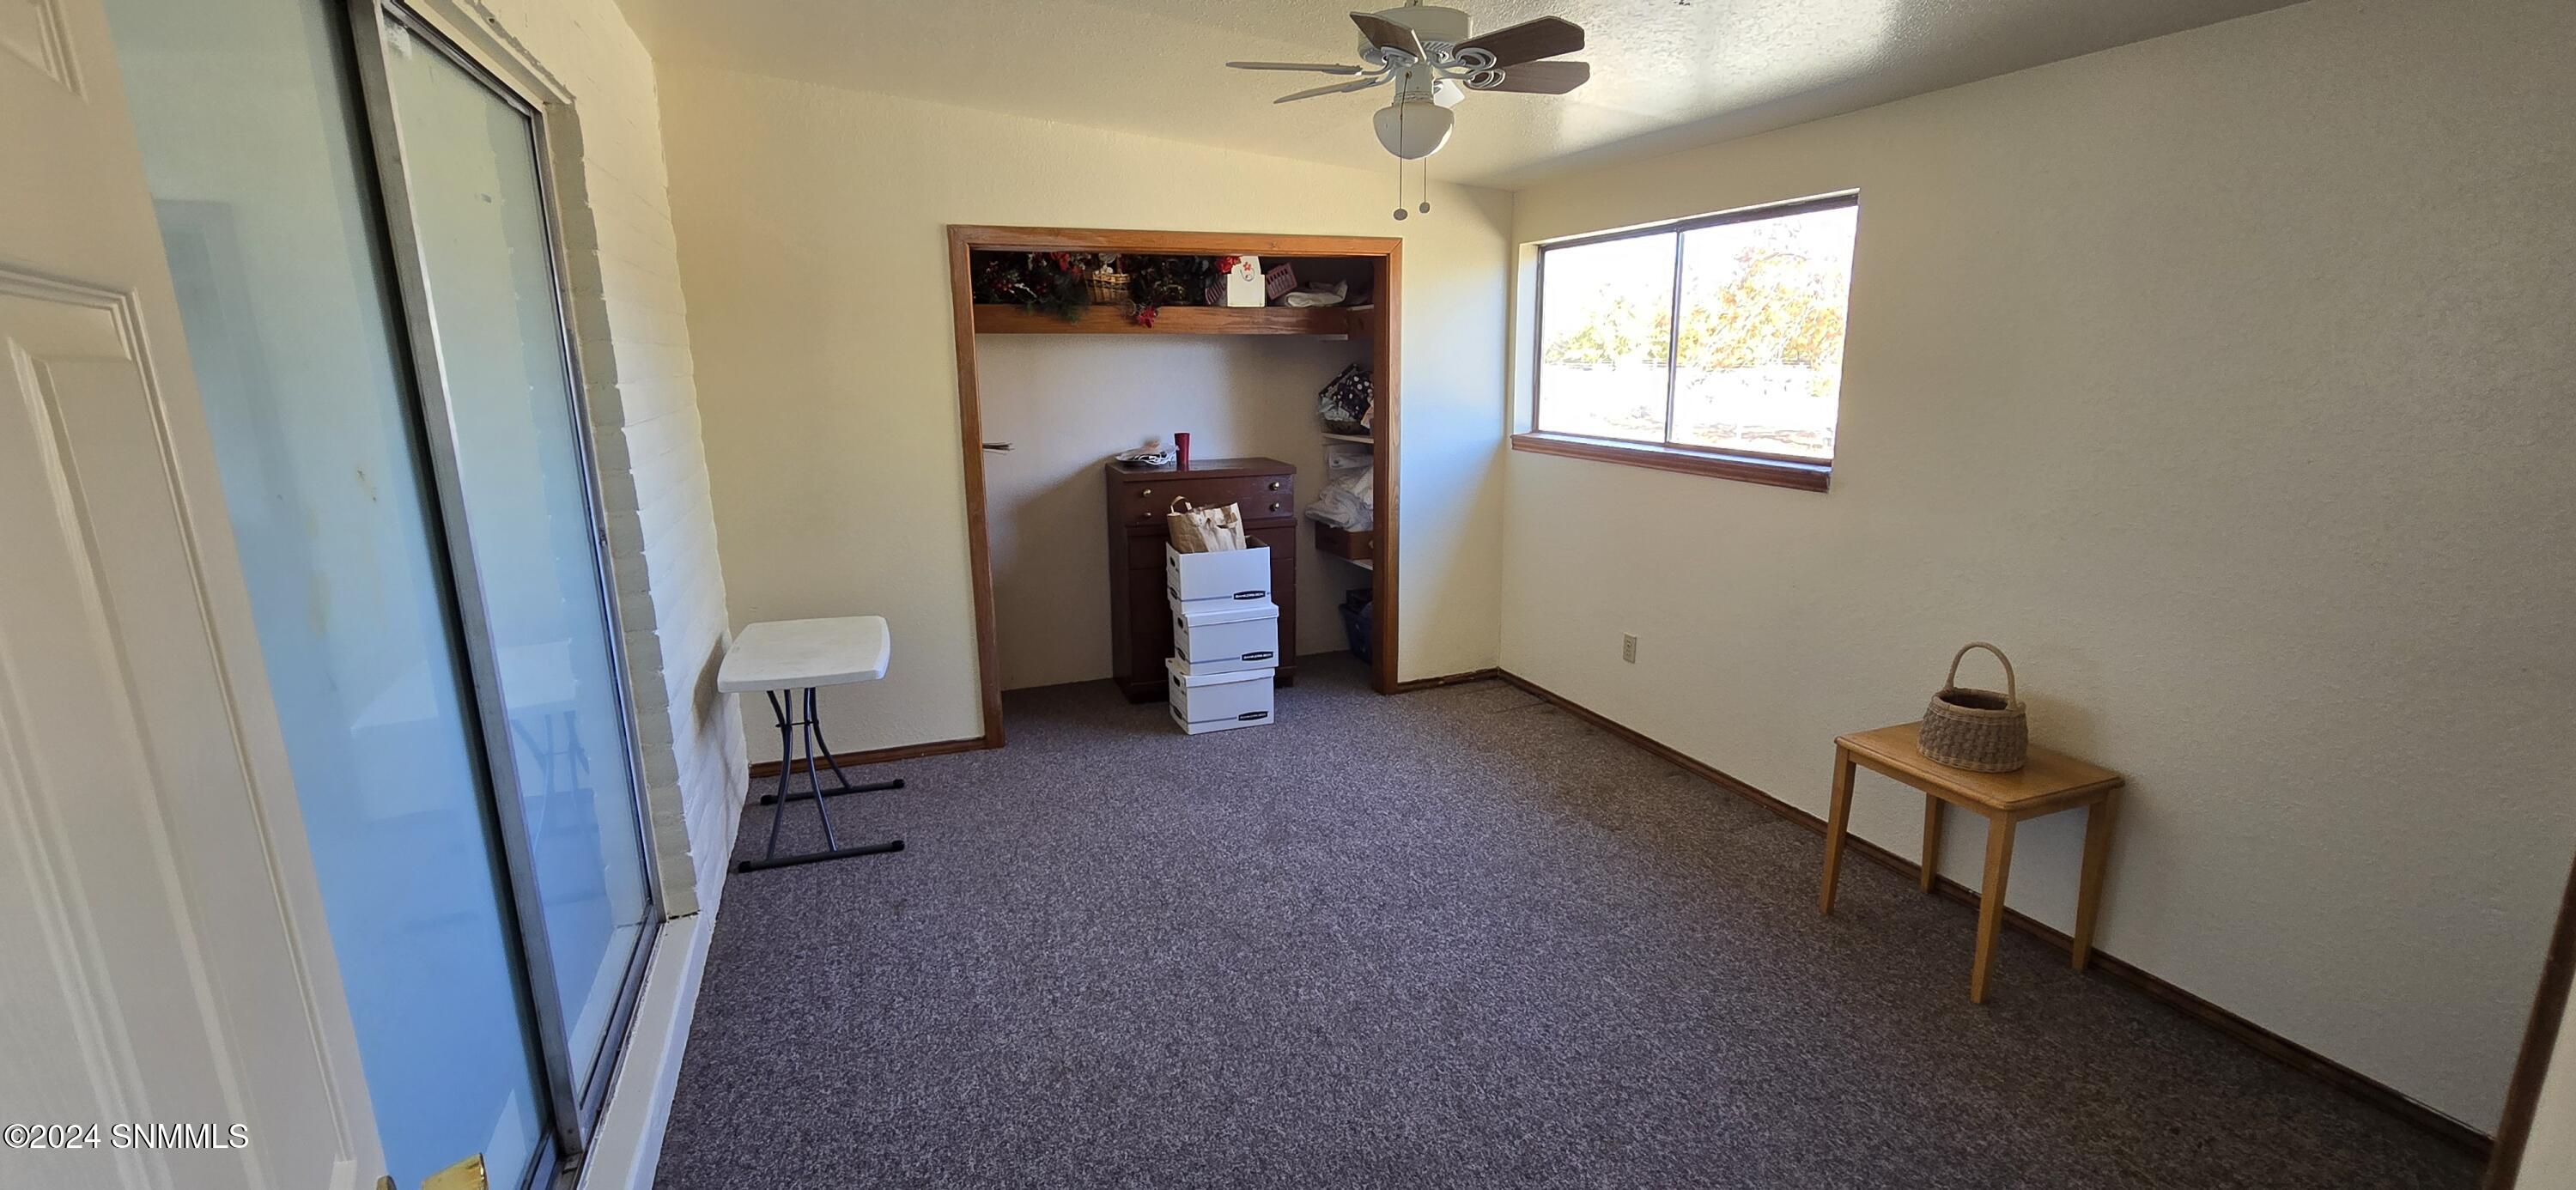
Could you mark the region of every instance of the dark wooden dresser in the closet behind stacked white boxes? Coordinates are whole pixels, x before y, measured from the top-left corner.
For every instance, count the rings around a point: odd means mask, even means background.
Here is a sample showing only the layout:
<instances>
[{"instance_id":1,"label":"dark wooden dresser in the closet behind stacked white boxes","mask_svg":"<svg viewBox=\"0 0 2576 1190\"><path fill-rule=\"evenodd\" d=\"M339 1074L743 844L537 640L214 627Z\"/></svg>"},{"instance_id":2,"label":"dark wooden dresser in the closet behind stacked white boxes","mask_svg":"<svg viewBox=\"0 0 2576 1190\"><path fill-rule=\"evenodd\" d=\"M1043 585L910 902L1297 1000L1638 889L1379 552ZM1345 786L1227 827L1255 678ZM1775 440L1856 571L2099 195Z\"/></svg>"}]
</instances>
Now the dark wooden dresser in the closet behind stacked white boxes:
<instances>
[{"instance_id":1,"label":"dark wooden dresser in the closet behind stacked white boxes","mask_svg":"<svg viewBox=\"0 0 2576 1190\"><path fill-rule=\"evenodd\" d=\"M1296 683L1296 466L1278 458L1195 458L1128 469L1105 464L1110 515L1110 680L1133 703L1164 695L1172 605L1162 592L1164 513L1190 505L1242 505L1244 531L1270 546L1270 600L1280 605L1280 685Z\"/></svg>"}]
</instances>

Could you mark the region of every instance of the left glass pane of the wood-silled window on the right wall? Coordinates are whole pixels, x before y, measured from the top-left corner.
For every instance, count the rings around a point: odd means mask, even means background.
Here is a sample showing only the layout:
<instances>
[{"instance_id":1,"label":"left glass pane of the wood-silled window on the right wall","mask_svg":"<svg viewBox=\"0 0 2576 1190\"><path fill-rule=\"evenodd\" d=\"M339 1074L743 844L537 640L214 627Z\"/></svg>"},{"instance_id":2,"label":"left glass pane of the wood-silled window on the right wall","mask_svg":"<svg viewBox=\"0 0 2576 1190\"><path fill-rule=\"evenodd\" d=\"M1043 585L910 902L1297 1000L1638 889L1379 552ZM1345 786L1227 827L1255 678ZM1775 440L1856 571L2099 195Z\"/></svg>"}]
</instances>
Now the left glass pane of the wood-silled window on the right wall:
<instances>
[{"instance_id":1,"label":"left glass pane of the wood-silled window on the right wall","mask_svg":"<svg viewBox=\"0 0 2576 1190\"><path fill-rule=\"evenodd\" d=\"M1538 430L1664 440L1672 232L1551 247L1538 294Z\"/></svg>"}]
</instances>

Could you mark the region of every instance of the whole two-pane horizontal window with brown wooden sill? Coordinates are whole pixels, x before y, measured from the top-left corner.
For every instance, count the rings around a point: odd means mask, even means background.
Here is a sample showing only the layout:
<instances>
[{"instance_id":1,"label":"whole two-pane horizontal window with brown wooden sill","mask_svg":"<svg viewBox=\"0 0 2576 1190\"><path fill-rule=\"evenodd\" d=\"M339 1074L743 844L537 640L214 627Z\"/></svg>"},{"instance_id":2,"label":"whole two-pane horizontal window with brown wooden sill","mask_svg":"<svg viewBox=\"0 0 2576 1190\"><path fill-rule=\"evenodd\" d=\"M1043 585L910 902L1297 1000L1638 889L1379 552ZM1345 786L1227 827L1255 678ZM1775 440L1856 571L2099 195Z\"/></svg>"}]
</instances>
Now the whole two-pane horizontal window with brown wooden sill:
<instances>
[{"instance_id":1,"label":"whole two-pane horizontal window with brown wooden sill","mask_svg":"<svg viewBox=\"0 0 2576 1190\"><path fill-rule=\"evenodd\" d=\"M1824 489L1860 198L1538 250L1538 386L1512 446Z\"/></svg>"}]
</instances>

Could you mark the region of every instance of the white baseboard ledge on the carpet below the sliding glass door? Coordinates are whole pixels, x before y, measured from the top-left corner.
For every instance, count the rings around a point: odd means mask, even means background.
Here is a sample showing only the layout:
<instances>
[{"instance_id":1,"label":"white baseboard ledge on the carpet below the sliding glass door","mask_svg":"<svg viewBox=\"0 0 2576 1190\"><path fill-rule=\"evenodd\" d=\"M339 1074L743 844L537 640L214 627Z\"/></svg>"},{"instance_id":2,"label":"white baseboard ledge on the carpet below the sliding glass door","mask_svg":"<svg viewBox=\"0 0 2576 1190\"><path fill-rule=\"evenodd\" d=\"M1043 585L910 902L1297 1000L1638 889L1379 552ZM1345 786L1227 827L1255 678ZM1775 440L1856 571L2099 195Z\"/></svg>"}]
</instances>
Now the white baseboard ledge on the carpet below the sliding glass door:
<instances>
[{"instance_id":1,"label":"white baseboard ledge on the carpet below the sliding glass door","mask_svg":"<svg viewBox=\"0 0 2576 1190\"><path fill-rule=\"evenodd\" d=\"M698 1012L706 943L714 935L714 907L672 917L654 935L634 1025L626 1030L626 1053L618 1059L608 1108L600 1110L600 1128L582 1159L580 1190L652 1190L654 1169L662 1164L670 1100L680 1090L688 1023Z\"/></svg>"}]
</instances>

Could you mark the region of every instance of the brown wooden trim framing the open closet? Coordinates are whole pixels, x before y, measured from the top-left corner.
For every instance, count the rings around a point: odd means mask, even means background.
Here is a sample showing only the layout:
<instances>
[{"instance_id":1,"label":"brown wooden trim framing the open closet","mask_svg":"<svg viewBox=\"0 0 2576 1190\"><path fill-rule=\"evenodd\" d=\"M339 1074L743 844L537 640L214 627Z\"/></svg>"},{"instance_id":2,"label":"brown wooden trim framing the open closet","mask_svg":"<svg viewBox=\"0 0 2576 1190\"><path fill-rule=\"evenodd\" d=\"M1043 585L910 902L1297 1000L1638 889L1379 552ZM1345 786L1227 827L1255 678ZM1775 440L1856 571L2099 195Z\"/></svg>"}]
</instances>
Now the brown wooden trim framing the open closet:
<instances>
[{"instance_id":1,"label":"brown wooden trim framing the open closet","mask_svg":"<svg viewBox=\"0 0 2576 1190\"><path fill-rule=\"evenodd\" d=\"M1378 559L1376 636L1370 639L1370 685L1396 693L1399 641L1399 515L1396 477L1401 471L1399 399L1399 294L1404 294L1404 240L1373 234L1260 234L1260 232L1144 232L1100 227L984 227L948 224L948 309L958 348L958 451L966 471L966 559L974 574L974 647L984 685L984 747L1002 747L1002 654L992 605L992 541L984 528L984 407L976 394L974 273L971 252L1159 252L1159 255L1285 255L1285 258L1373 258L1378 263L1376 309L1368 330L1368 358L1376 371L1376 484ZM1321 428L1316 430L1321 433Z\"/></svg>"}]
</instances>

